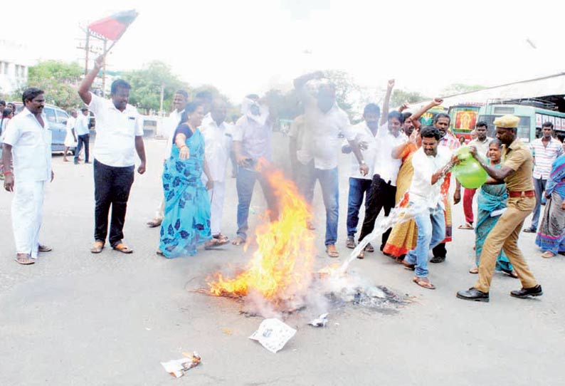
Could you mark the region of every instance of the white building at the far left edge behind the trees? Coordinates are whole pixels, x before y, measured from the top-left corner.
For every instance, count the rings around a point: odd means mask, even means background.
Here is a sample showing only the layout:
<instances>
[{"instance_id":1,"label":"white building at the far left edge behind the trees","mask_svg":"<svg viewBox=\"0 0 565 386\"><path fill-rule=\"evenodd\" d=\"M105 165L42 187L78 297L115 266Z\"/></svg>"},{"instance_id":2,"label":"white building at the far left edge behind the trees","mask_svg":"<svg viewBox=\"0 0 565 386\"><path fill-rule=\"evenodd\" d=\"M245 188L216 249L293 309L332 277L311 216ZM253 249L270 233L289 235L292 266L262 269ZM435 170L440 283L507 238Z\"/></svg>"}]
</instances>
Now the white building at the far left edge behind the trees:
<instances>
[{"instance_id":1,"label":"white building at the far left edge behind the trees","mask_svg":"<svg viewBox=\"0 0 565 386\"><path fill-rule=\"evenodd\" d=\"M0 95L8 95L26 84L28 68L36 61L26 46L0 40Z\"/></svg>"}]
</instances>

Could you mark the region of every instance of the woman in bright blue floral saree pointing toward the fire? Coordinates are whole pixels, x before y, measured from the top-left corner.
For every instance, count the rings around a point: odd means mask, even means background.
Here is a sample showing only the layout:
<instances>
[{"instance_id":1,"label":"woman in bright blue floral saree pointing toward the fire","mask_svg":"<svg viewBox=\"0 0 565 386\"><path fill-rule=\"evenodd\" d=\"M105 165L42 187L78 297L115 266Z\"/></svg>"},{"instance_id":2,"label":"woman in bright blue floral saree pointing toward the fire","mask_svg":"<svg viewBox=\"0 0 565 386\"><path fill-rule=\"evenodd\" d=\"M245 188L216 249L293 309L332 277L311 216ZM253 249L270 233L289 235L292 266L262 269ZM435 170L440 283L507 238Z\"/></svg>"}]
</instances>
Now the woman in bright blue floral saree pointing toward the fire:
<instances>
[{"instance_id":1,"label":"woman in bright blue floral saree pointing toward the fire","mask_svg":"<svg viewBox=\"0 0 565 386\"><path fill-rule=\"evenodd\" d=\"M212 179L204 158L204 137L198 127L204 118L199 103L189 103L176 127L171 157L163 171L164 218L157 254L172 259L194 256L196 246L211 249L226 244L213 239L210 231L210 198ZM208 177L206 187L201 179Z\"/></svg>"}]
</instances>

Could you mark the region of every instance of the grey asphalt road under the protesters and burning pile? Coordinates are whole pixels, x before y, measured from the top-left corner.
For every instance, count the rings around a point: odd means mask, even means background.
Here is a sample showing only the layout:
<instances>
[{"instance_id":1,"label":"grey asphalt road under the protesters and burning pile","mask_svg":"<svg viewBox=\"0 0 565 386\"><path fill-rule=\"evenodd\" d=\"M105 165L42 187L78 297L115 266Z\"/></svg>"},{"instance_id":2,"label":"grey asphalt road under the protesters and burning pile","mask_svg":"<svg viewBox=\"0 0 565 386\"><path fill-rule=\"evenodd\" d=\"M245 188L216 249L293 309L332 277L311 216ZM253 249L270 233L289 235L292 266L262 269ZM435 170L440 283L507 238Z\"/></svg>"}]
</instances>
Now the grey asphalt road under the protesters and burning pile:
<instances>
[{"instance_id":1,"label":"grey asphalt road under the protesters and burning pile","mask_svg":"<svg viewBox=\"0 0 565 386\"><path fill-rule=\"evenodd\" d=\"M286 140L275 135L276 160L287 159ZM286 323L298 332L277 354L248 336L262 318L239 313L238 303L191 292L209 274L245 264L250 250L219 251L167 260L155 255L158 229L145 222L161 194L163 141L147 140L148 170L136 175L125 225L134 254L93 241L91 165L54 156L56 179L48 187L41 241L53 247L33 266L13 260L11 194L0 192L0 385L564 385L565 259L542 259L534 235L520 246L544 287L544 296L511 298L519 281L496 273L490 303L470 303L455 292L472 286L471 231L455 229L448 260L431 264L429 291L411 272L379 252L356 260L352 272L370 283L412 296L396 313L348 306L330 312L325 328L306 325L307 311ZM347 170L340 175L339 261L344 247ZM235 179L228 181L224 233L236 231ZM251 229L265 209L257 187ZM316 192L316 263L324 254L324 214ZM455 208L454 226L463 209ZM179 380L159 362L196 350L202 363Z\"/></svg>"}]
</instances>

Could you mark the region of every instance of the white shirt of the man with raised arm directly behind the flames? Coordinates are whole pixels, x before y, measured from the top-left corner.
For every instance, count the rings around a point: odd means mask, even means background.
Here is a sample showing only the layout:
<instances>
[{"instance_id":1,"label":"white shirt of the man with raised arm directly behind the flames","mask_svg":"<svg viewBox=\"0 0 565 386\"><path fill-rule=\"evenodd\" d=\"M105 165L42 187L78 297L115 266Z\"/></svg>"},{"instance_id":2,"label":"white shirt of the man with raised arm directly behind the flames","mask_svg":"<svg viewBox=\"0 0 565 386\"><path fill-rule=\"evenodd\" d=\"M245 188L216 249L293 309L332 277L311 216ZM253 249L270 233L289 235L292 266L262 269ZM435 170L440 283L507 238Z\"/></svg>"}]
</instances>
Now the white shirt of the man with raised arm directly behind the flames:
<instances>
[{"instance_id":1,"label":"white shirt of the man with raised arm directly behind the flames","mask_svg":"<svg viewBox=\"0 0 565 386\"><path fill-rule=\"evenodd\" d=\"M316 169L329 170L337 167L339 153L342 150L341 133L347 140L355 139L355 132L347 114L334 105L327 113L317 105L307 106L303 124L298 127L304 130L297 143L297 159L302 165L314 160Z\"/></svg>"}]
</instances>

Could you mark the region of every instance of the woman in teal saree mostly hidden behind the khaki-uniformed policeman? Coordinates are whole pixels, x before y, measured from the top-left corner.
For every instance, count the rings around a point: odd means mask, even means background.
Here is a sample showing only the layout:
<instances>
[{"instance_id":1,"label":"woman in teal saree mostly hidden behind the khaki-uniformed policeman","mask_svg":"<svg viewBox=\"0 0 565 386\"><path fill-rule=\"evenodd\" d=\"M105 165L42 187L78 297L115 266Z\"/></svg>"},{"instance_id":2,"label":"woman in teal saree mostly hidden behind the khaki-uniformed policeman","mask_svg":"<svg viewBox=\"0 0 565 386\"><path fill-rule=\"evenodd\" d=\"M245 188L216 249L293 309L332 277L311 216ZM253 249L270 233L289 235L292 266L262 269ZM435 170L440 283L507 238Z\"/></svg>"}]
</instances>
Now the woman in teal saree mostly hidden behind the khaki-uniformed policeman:
<instances>
[{"instance_id":1,"label":"woman in teal saree mostly hidden behind the khaki-uniformed policeman","mask_svg":"<svg viewBox=\"0 0 565 386\"><path fill-rule=\"evenodd\" d=\"M501 157L502 143L499 140L492 140L488 148L488 163L495 167L501 167ZM507 198L508 193L505 184L483 184L480 187L477 197L479 212L477 226L475 227L475 266L469 270L470 273L479 273L478 266L480 254L482 253L482 244L485 244L488 234L506 209ZM513 278L518 277L504 251L500 251L496 270L505 272Z\"/></svg>"}]
</instances>

